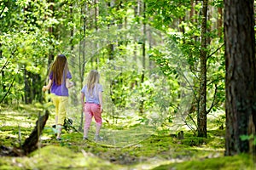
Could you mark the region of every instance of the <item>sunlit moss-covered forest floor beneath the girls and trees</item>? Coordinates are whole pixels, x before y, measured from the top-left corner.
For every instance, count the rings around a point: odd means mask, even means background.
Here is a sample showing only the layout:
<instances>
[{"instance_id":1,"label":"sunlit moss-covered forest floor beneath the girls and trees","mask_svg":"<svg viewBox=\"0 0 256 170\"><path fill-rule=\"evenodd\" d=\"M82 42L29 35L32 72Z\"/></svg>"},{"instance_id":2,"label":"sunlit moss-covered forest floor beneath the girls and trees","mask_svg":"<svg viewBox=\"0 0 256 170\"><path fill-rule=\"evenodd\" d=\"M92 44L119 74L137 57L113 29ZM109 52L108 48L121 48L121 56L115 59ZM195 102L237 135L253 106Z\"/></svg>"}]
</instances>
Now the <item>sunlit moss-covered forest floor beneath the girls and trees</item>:
<instances>
[{"instance_id":1,"label":"sunlit moss-covered forest floor beneath the girls and trees","mask_svg":"<svg viewBox=\"0 0 256 170\"><path fill-rule=\"evenodd\" d=\"M1 105L0 146L19 147L35 127L38 112L34 105ZM106 123L104 139L96 142L93 127L89 140L69 129L58 141L53 124L50 115L38 150L29 156L0 156L0 169L256 169L252 156L224 156L224 130L218 127L208 130L207 139L189 130L179 139L165 128Z\"/></svg>"}]
</instances>

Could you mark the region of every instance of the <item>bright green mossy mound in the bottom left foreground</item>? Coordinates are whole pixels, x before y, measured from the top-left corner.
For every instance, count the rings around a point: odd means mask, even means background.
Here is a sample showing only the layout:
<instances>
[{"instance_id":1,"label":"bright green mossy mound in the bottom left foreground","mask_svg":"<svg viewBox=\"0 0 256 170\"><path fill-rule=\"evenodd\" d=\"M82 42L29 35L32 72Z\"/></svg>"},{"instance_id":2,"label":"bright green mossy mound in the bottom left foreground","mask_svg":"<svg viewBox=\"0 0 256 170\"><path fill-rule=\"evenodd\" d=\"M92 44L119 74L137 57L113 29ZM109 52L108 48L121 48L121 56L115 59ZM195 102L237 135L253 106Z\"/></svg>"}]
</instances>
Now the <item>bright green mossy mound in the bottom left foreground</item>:
<instances>
[{"instance_id":1,"label":"bright green mossy mound in the bottom left foreground","mask_svg":"<svg viewBox=\"0 0 256 170\"><path fill-rule=\"evenodd\" d=\"M49 145L28 157L3 158L0 169L119 169L117 165L80 150L75 153L65 147Z\"/></svg>"}]
</instances>

